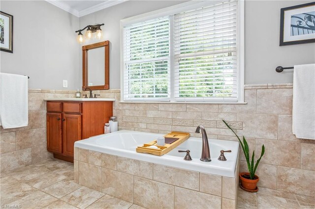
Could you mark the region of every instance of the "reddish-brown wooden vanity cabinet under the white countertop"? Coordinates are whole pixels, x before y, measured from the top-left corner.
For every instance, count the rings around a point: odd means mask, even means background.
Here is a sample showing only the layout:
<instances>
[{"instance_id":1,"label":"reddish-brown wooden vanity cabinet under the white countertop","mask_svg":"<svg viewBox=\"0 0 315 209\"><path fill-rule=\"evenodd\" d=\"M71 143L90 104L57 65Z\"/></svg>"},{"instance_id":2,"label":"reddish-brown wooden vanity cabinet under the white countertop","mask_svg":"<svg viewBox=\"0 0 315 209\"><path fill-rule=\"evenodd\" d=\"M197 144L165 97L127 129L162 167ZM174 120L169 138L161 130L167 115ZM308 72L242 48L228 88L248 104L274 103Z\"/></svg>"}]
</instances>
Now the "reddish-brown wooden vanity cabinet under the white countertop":
<instances>
[{"instance_id":1,"label":"reddish-brown wooden vanity cabinet under the white countertop","mask_svg":"<svg viewBox=\"0 0 315 209\"><path fill-rule=\"evenodd\" d=\"M111 101L47 101L47 150L73 162L74 142L103 134L112 115Z\"/></svg>"}]
</instances>

